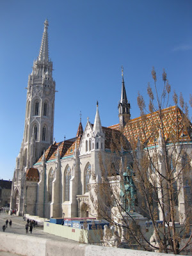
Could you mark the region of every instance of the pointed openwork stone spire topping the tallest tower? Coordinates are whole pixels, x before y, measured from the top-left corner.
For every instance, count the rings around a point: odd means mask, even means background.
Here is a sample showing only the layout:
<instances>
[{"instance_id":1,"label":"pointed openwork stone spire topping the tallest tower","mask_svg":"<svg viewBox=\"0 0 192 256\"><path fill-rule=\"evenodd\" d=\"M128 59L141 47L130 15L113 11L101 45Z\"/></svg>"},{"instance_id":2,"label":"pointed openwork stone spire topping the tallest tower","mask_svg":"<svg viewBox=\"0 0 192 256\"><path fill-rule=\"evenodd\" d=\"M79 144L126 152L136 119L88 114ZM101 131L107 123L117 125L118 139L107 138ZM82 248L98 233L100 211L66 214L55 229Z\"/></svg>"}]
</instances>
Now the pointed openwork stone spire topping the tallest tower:
<instances>
[{"instance_id":1,"label":"pointed openwork stone spire topping the tallest tower","mask_svg":"<svg viewBox=\"0 0 192 256\"><path fill-rule=\"evenodd\" d=\"M40 52L38 55L38 60L40 61L49 61L49 47L48 47L48 29L49 23L48 20L46 19L44 22L44 33L42 36L42 44L40 47Z\"/></svg>"}]
</instances>

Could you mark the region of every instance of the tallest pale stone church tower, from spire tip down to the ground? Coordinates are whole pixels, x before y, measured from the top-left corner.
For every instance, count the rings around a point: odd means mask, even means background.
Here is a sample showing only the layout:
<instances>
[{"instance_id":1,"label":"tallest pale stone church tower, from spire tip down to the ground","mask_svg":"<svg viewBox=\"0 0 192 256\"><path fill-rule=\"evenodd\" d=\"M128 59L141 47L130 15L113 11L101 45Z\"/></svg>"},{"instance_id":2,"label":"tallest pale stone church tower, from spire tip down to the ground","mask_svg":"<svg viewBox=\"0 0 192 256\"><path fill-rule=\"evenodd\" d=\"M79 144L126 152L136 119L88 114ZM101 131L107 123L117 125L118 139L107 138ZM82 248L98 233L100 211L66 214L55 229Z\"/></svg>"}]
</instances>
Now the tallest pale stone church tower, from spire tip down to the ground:
<instances>
[{"instance_id":1,"label":"tallest pale stone church tower, from spire tip down to the ground","mask_svg":"<svg viewBox=\"0 0 192 256\"><path fill-rule=\"evenodd\" d=\"M33 62L26 88L24 136L16 158L10 205L12 209L17 209L19 215L26 210L26 172L51 145L53 138L55 82L52 79L52 61L49 60L48 26L48 20L45 20L40 52Z\"/></svg>"}]
</instances>

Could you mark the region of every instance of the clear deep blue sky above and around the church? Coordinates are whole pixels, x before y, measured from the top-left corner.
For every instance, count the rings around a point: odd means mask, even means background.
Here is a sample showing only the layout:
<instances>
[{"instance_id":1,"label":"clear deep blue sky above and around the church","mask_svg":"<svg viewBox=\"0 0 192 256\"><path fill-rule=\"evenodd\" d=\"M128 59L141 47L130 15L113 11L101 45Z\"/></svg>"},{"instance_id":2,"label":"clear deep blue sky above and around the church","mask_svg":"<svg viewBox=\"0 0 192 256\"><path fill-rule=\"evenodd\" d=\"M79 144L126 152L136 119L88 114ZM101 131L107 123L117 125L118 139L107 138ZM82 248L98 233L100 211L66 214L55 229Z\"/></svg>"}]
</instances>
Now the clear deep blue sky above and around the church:
<instances>
[{"instance_id":1,"label":"clear deep blue sky above and around the church","mask_svg":"<svg viewBox=\"0 0 192 256\"><path fill-rule=\"evenodd\" d=\"M121 66L131 118L140 115L151 70L165 68L172 90L189 100L192 84L191 0L1 0L0 179L12 179L24 131L26 87L49 20L49 56L56 81L54 137L76 136L94 122L96 102L103 126L118 123ZM160 90L160 89L159 89ZM172 104L172 102L170 102Z\"/></svg>"}]
</instances>

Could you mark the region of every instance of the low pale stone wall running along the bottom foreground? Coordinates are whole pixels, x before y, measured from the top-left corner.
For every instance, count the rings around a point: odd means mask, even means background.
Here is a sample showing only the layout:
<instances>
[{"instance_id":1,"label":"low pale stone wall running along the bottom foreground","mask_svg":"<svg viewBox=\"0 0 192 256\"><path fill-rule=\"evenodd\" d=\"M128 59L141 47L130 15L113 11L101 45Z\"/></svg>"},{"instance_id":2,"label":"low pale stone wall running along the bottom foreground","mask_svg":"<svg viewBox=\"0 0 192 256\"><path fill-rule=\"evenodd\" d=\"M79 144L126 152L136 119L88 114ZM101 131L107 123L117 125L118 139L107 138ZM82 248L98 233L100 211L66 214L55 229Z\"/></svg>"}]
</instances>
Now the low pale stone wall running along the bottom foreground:
<instances>
[{"instance_id":1,"label":"low pale stone wall running along the bottom foreground","mask_svg":"<svg viewBox=\"0 0 192 256\"><path fill-rule=\"evenodd\" d=\"M4 232L0 232L0 241L0 250L25 256L52 256L55 253L57 256L167 256L165 253L109 248Z\"/></svg>"}]
</instances>

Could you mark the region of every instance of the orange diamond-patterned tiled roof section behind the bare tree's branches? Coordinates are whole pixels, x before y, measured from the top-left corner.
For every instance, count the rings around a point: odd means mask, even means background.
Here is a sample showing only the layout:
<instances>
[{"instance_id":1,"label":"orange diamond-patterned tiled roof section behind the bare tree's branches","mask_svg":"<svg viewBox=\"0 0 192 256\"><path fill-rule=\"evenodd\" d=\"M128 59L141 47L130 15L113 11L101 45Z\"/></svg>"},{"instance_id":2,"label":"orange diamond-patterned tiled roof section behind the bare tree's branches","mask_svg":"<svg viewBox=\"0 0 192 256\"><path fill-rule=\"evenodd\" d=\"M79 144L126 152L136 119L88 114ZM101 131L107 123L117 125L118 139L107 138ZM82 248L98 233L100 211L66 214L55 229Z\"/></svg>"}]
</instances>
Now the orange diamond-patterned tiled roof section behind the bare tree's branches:
<instances>
[{"instance_id":1,"label":"orange diamond-patterned tiled roof section behind the bare tree's branches","mask_svg":"<svg viewBox=\"0 0 192 256\"><path fill-rule=\"evenodd\" d=\"M171 142L171 137L178 134L182 141L191 140L188 129L183 125L184 114L177 106L166 108L162 110L163 113L163 130L165 140ZM189 124L192 128L191 123ZM161 120L159 113L145 115L145 120L140 117L129 120L125 125L124 135L128 141L137 143L140 138L141 143L145 143L148 147L154 145L154 139L157 141L159 137L159 129L161 127ZM135 144L136 145L136 144Z\"/></svg>"}]
</instances>

